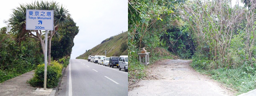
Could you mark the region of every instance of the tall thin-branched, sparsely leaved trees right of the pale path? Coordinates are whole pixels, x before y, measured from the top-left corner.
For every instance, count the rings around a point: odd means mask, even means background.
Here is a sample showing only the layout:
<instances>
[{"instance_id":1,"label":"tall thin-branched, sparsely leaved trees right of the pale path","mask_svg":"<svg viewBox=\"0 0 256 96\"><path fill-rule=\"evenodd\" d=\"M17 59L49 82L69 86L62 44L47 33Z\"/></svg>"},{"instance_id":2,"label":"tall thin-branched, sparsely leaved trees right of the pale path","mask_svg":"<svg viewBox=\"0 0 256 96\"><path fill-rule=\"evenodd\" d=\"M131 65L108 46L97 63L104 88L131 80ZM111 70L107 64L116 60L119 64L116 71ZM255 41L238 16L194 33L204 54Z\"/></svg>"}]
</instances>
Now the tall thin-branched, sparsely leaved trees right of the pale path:
<instances>
[{"instance_id":1,"label":"tall thin-branched, sparsely leaved trees right of the pale path","mask_svg":"<svg viewBox=\"0 0 256 96\"><path fill-rule=\"evenodd\" d=\"M231 49L235 47L231 46L231 42L242 34L246 36L239 41L245 47L239 46L235 49L245 48L244 60L253 63L256 44L256 2L255 0L247 0L247 2L250 2L250 8L238 5L232 7L229 0L205 0L204 2L194 0L185 4L184 10L180 11L189 25L193 26L198 52L206 55L209 60L215 61L216 68L238 65L234 63L237 58L232 59L237 53L232 54Z\"/></svg>"}]
</instances>

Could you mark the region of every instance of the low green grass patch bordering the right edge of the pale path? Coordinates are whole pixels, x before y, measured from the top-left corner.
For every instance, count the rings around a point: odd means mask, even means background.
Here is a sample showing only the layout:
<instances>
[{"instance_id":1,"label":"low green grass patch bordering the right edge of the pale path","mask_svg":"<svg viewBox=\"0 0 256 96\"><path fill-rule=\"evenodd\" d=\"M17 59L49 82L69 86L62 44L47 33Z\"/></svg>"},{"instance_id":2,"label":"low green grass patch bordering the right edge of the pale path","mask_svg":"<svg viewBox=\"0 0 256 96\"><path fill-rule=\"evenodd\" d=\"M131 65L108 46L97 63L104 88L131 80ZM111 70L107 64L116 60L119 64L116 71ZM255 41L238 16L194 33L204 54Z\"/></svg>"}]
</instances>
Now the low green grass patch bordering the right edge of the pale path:
<instances>
[{"instance_id":1,"label":"low green grass patch bordering the right edge of the pale path","mask_svg":"<svg viewBox=\"0 0 256 96\"><path fill-rule=\"evenodd\" d=\"M218 68L213 70L195 68L195 70L202 74L210 74L211 79L233 89L236 95L256 88L256 75L246 71L247 69L245 67L235 69Z\"/></svg>"}]
</instances>

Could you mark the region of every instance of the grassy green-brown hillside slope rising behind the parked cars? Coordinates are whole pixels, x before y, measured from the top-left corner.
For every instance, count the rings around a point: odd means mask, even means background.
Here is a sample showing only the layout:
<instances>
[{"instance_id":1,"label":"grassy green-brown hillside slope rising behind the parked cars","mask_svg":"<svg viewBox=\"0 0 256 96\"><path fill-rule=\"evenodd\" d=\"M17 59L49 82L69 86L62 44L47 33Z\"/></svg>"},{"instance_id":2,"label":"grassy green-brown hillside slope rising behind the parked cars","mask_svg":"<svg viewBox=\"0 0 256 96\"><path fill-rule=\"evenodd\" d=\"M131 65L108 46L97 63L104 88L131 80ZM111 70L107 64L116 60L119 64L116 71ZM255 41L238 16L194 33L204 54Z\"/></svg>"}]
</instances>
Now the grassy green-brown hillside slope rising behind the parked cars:
<instances>
[{"instance_id":1,"label":"grassy green-brown hillside slope rising behind the parked cars","mask_svg":"<svg viewBox=\"0 0 256 96\"><path fill-rule=\"evenodd\" d=\"M105 55L107 50L107 57L128 55L128 33L127 31L119 35L110 37L101 42L101 44L94 48L87 50L84 54L76 57L76 59L87 59L89 55ZM122 46L122 48L121 48Z\"/></svg>"}]
</instances>

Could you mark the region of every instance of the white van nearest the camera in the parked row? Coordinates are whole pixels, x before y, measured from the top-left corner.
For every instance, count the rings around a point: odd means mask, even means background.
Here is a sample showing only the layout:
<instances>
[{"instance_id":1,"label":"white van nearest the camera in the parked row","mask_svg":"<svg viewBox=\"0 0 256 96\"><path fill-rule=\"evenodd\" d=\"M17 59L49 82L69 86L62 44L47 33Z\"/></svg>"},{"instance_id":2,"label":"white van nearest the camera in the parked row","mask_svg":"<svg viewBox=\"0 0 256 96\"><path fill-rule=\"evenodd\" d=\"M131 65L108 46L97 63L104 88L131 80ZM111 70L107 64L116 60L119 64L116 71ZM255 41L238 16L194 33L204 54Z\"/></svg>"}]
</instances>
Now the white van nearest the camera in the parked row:
<instances>
[{"instance_id":1,"label":"white van nearest the camera in the parked row","mask_svg":"<svg viewBox=\"0 0 256 96\"><path fill-rule=\"evenodd\" d=\"M128 72L128 55L121 55L119 57L118 68Z\"/></svg>"}]
</instances>

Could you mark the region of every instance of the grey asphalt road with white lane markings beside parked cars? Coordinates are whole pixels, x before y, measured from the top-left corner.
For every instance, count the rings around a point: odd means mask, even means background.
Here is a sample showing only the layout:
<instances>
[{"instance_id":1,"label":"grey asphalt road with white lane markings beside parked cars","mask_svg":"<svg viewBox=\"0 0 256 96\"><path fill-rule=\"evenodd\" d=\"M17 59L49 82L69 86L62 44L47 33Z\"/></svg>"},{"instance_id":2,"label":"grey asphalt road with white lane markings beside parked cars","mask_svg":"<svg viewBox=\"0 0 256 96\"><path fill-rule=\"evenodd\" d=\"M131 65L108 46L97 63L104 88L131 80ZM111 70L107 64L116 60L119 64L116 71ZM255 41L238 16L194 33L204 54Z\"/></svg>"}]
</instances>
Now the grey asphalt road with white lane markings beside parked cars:
<instances>
[{"instance_id":1,"label":"grey asphalt road with white lane markings beside parked cars","mask_svg":"<svg viewBox=\"0 0 256 96\"><path fill-rule=\"evenodd\" d=\"M84 59L70 59L61 83L59 96L128 96L128 72Z\"/></svg>"}]
</instances>

